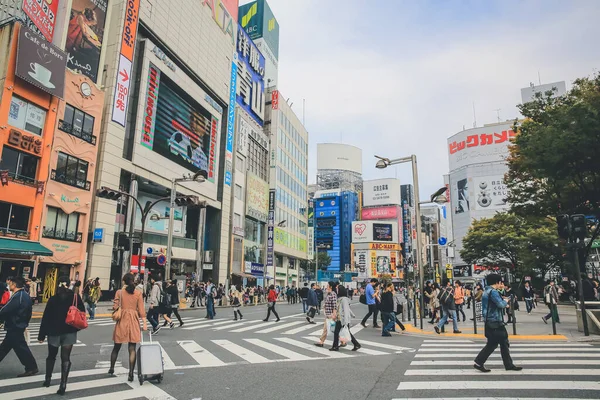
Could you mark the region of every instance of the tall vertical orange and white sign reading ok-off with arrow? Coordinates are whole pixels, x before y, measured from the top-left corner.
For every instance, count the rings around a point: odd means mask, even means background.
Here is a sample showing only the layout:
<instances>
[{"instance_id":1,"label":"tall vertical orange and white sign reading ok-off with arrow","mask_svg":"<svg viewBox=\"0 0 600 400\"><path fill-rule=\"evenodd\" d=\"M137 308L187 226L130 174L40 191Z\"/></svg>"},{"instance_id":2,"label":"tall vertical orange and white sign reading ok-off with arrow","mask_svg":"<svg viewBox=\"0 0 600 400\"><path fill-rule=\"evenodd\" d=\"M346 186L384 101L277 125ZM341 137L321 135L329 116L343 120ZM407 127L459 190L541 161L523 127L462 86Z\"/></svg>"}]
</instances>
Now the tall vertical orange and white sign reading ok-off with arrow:
<instances>
[{"instance_id":1,"label":"tall vertical orange and white sign reading ok-off with arrow","mask_svg":"<svg viewBox=\"0 0 600 400\"><path fill-rule=\"evenodd\" d=\"M125 127L127 119L127 104L129 102L129 83L131 65L135 50L135 40L139 22L140 0L127 0L125 6L125 22L121 37L121 52L119 54L119 68L117 70L117 84L113 98L112 120Z\"/></svg>"}]
</instances>

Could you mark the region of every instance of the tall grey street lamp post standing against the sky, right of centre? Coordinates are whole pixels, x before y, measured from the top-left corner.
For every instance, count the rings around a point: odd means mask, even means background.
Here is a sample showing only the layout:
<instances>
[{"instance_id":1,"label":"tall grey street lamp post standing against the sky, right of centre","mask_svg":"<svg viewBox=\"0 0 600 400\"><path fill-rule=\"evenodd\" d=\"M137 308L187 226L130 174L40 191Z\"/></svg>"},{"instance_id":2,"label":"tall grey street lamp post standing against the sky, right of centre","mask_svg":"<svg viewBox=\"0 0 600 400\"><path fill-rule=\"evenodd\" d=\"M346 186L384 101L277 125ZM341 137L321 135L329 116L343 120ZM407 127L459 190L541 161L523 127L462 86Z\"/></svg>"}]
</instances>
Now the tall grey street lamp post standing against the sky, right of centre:
<instances>
[{"instance_id":1,"label":"tall grey street lamp post standing against the sky, right of centre","mask_svg":"<svg viewBox=\"0 0 600 400\"><path fill-rule=\"evenodd\" d=\"M424 315L424 306L425 306L425 302L423 299L423 289L425 288L425 271L424 271L424 263L423 263L423 254L422 254L422 249L423 249L423 244L422 244L422 240L421 240L421 204L419 202L419 173L417 170L417 156L412 154L411 156L408 157L401 157L401 158L394 158L394 159L389 159L389 158L385 158L385 157L379 157L379 156L375 156L376 158L378 158L379 160L377 161L377 163L375 164L376 168L379 169L384 169L389 167L390 165L397 165L397 164L404 164L407 162L411 163L412 166L412 174L413 174L413 185L414 185L414 189L415 189L415 208L416 208L416 214L417 217L415 218L416 220L416 229L417 229L417 267L419 268L419 290L421 292L420 297L420 306L421 306L421 312L419 315L419 318L421 320L421 329L423 329L423 315ZM444 191L446 190L446 188L444 187ZM437 192L435 192L434 194L431 195L431 202L434 202L438 197L440 197L440 195L443 193L442 189L440 188L440 190L438 190Z\"/></svg>"}]
</instances>

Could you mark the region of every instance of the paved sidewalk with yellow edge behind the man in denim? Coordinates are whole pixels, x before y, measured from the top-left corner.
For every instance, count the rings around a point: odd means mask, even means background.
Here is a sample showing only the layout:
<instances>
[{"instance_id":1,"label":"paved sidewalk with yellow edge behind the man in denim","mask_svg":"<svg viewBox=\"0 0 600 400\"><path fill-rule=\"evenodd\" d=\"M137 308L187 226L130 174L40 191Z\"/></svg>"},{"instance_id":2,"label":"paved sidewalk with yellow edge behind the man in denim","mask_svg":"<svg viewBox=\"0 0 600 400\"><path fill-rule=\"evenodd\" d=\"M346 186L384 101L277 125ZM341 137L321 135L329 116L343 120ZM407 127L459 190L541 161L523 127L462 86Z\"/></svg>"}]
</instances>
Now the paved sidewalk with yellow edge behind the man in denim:
<instances>
[{"instance_id":1,"label":"paved sidewalk with yellow edge behind the man in denim","mask_svg":"<svg viewBox=\"0 0 600 400\"><path fill-rule=\"evenodd\" d=\"M522 303L522 302L521 302ZM586 341L598 341L600 342L600 335L590 334L590 336L584 336L583 332L577 330L577 317L575 315L574 306L558 306L558 315L560 317L560 324L556 324L556 335L552 334L552 321L548 320L548 324L542 321L542 317L548 313L548 307L543 303L538 303L538 307L533 309L531 314L527 314L525 311L525 304L519 304L522 309L517 311L517 323L516 323L516 335L513 335L513 324L506 325L511 340L538 340L538 341L575 341L575 342L586 342ZM454 337L454 338L472 338L472 339L485 339L483 335L484 327L483 322L477 323L477 334L473 327L473 309L466 309L465 314L467 320L458 324L460 334L452 333L452 323L446 325L446 333L442 333L440 336ZM462 314L461 314L462 316ZM423 320L423 330L420 328L420 321L417 319L416 326L413 326L413 321L407 321L406 325L407 332L436 335L433 330L433 325L429 324L428 320ZM462 320L461 320L462 321ZM588 320L588 323L591 321Z\"/></svg>"}]
</instances>

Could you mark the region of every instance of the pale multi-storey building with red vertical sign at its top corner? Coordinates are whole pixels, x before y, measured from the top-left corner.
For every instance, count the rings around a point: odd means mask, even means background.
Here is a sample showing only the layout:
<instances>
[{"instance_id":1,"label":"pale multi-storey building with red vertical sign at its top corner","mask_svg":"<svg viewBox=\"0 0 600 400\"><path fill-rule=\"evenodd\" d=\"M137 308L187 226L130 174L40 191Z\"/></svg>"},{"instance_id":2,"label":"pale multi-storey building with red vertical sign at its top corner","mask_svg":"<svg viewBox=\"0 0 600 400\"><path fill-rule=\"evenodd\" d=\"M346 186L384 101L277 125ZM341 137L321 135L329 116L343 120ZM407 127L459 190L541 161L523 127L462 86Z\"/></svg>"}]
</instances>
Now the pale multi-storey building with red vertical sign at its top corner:
<instances>
[{"instance_id":1,"label":"pale multi-storey building with red vertical sign at its top corner","mask_svg":"<svg viewBox=\"0 0 600 400\"><path fill-rule=\"evenodd\" d=\"M268 89L265 133L271 139L267 275L298 285L307 259L308 132L279 90ZM274 270L273 270L274 269Z\"/></svg>"}]
</instances>

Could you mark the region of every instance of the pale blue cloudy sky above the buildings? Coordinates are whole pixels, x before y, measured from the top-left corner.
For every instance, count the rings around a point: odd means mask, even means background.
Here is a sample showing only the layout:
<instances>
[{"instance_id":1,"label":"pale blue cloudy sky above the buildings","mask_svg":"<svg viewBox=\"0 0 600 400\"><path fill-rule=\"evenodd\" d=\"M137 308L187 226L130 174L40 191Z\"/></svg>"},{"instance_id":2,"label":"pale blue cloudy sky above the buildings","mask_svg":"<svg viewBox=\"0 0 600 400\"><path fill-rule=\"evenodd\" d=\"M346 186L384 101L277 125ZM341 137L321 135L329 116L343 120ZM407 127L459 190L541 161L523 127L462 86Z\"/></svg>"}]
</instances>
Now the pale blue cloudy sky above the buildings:
<instances>
[{"instance_id":1,"label":"pale blue cloudy sky above the buildings","mask_svg":"<svg viewBox=\"0 0 600 400\"><path fill-rule=\"evenodd\" d=\"M241 0L240 4L249 1ZM415 154L420 197L443 186L447 138L519 116L520 89L600 66L598 0L269 0L280 26L279 84L317 143L363 152L363 178L411 182L410 164L375 168L374 155Z\"/></svg>"}]
</instances>

